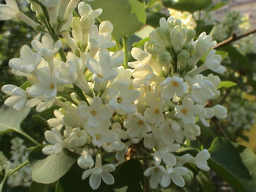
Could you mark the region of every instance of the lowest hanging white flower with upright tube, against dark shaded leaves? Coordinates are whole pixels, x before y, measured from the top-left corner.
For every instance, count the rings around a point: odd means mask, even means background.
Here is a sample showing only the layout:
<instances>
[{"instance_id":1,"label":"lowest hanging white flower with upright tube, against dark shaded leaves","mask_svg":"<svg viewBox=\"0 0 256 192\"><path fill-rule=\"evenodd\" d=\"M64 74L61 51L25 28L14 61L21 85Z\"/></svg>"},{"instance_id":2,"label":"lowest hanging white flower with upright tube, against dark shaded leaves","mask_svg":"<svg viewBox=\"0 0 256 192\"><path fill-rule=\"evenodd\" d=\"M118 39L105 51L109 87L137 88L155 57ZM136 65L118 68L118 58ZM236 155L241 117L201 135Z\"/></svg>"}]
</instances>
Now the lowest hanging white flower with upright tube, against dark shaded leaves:
<instances>
[{"instance_id":1,"label":"lowest hanging white flower with upright tube, against dark shaded leaves","mask_svg":"<svg viewBox=\"0 0 256 192\"><path fill-rule=\"evenodd\" d=\"M82 179L89 178L89 184L92 189L97 189L101 184L101 179L108 185L114 183L114 177L109 172L116 170L116 167L109 163L102 166L101 154L96 155L95 167L93 169L87 169L82 174Z\"/></svg>"}]
</instances>

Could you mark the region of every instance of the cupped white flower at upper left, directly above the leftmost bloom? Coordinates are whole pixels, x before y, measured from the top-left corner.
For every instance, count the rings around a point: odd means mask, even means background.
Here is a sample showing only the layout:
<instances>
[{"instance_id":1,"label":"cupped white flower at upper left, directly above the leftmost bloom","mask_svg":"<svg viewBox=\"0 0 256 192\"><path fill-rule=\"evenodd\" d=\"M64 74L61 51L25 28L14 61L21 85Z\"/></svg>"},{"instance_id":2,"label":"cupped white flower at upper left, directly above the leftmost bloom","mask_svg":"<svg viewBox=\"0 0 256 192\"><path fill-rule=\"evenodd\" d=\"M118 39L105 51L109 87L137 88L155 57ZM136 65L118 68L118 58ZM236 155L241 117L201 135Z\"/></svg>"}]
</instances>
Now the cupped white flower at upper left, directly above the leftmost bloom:
<instances>
[{"instance_id":1,"label":"cupped white flower at upper left, directly above the leftmost bloom","mask_svg":"<svg viewBox=\"0 0 256 192\"><path fill-rule=\"evenodd\" d=\"M9 66L25 74L31 74L41 62L40 53L33 53L29 46L23 45L20 49L20 58L13 58L9 61Z\"/></svg>"}]
</instances>

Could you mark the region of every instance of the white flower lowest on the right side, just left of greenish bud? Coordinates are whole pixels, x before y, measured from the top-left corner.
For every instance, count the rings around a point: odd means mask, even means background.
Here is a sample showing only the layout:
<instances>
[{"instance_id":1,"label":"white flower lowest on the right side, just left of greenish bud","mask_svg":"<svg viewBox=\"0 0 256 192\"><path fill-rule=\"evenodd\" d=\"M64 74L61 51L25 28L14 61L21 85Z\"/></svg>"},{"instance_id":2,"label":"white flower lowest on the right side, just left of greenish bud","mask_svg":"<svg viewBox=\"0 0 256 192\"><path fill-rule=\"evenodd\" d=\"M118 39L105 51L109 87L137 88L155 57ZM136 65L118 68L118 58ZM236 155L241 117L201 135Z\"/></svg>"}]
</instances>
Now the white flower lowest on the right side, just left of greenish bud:
<instances>
[{"instance_id":1,"label":"white flower lowest on the right side, just left of greenish bud","mask_svg":"<svg viewBox=\"0 0 256 192\"><path fill-rule=\"evenodd\" d=\"M187 173L188 169L186 167L167 167L167 169L165 170L165 174L161 179L162 187L169 186L171 180L179 187L184 187L185 181L182 176L186 175Z\"/></svg>"}]
</instances>

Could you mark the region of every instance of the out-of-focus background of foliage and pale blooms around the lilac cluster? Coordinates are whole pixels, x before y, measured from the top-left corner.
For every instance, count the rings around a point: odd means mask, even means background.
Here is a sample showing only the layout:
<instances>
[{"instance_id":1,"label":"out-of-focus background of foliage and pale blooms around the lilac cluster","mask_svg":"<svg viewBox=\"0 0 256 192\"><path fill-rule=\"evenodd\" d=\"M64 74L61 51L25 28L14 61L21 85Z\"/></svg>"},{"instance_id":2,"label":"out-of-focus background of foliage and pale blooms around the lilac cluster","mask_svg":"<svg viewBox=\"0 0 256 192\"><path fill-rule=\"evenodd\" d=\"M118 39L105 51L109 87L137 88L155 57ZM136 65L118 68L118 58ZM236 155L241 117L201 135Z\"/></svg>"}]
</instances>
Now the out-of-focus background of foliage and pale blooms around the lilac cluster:
<instances>
[{"instance_id":1,"label":"out-of-focus background of foliage and pale blooms around the lilac cluster","mask_svg":"<svg viewBox=\"0 0 256 192\"><path fill-rule=\"evenodd\" d=\"M20 11L37 20L30 10L30 4L26 0L16 1ZM141 3L148 2L148 0L138 1ZM161 1L156 2L153 7L147 9L147 12L151 14L147 14L147 25L130 37L130 48L133 43L146 38L148 33L153 30L153 27L159 25L158 20L162 16L167 18L171 15L179 18L185 27L195 29L197 36L202 31L206 31L217 42L224 41L234 34L241 35L256 29L256 0L213 0L211 6L193 14L184 10L181 12L180 10L168 9L163 7ZM0 0L0 4L4 3L4 0ZM153 17L154 14L158 15L158 17ZM17 19L0 21L0 87L4 84L20 86L26 81L23 77L12 75L11 69L8 67L8 61L20 56L20 48L23 45L30 45L31 40L39 39L40 37L41 34L38 34L37 31ZM256 35L248 35L219 50L229 53L222 61L226 72L220 78L223 81L236 82L237 86L221 89L222 94L219 99L207 103L208 106L224 105L228 109L228 117L225 120L213 118L210 122L210 127L204 127L198 121L197 124L201 127L199 142L203 144L204 148L209 148L215 137L223 136L250 148L256 153ZM131 60L132 57L130 57ZM207 72L204 75L207 75ZM0 92L1 106L4 100L4 93ZM29 116L23 121L21 128L41 143L44 141L46 129L40 127L31 118L33 114L36 114L36 112L32 109ZM51 117L46 117L46 119L49 118ZM7 164L10 164L10 168L14 169L25 162L31 146L33 145L29 140L15 132L0 136L0 170ZM211 173L210 176L217 191L234 191L214 173ZM27 192L31 183L30 167L26 165L8 178L3 191ZM55 191L55 185L49 185L45 191ZM186 186L188 188L184 187L179 190L201 191L196 180L192 180Z\"/></svg>"}]
</instances>

